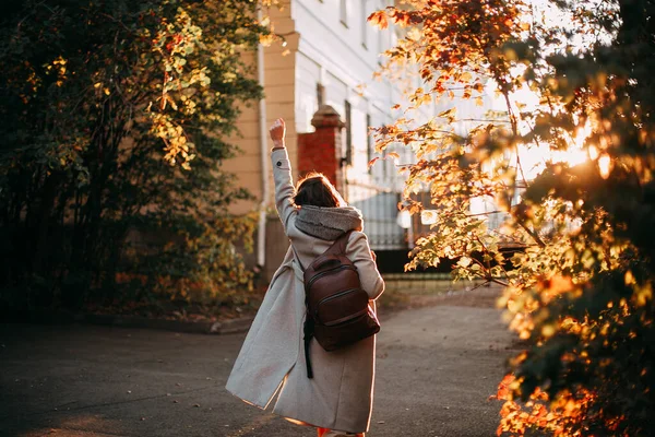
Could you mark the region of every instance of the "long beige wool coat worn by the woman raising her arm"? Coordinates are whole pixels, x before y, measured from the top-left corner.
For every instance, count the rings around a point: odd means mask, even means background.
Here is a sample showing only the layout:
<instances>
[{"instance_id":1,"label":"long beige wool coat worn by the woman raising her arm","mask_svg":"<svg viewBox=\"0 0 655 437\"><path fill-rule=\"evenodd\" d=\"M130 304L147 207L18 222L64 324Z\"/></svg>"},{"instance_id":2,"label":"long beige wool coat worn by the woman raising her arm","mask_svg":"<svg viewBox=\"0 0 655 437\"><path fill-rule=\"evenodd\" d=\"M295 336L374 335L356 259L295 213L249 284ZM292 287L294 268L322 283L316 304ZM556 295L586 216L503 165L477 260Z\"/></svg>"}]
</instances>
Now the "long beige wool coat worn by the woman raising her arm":
<instances>
[{"instance_id":1,"label":"long beige wool coat worn by the woman raising her arm","mask_svg":"<svg viewBox=\"0 0 655 437\"><path fill-rule=\"evenodd\" d=\"M279 218L300 262L309 265L333 241L296 227L298 210L293 203L295 189L287 152L275 150L271 156ZM376 299L383 292L384 282L364 233L350 234L346 255L357 267L362 288L371 300ZM374 308L374 303L371 305ZM367 432L373 399L376 338L332 352L325 352L312 339L310 359L314 376L309 379L302 341L305 311L302 270L289 248L246 336L227 390L261 409L277 394L275 414L309 425Z\"/></svg>"}]
</instances>

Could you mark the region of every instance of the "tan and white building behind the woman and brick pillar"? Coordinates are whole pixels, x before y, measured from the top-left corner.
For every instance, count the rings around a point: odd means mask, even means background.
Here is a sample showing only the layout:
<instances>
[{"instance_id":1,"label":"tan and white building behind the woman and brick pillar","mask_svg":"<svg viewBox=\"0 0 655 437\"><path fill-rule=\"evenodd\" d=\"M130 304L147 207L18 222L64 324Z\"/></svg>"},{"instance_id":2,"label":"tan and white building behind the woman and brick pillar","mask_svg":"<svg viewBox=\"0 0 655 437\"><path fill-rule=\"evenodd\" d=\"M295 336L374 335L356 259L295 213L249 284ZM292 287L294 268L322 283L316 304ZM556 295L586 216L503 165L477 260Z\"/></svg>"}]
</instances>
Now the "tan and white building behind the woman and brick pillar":
<instances>
[{"instance_id":1,"label":"tan and white building behind the woman and brick pillar","mask_svg":"<svg viewBox=\"0 0 655 437\"><path fill-rule=\"evenodd\" d=\"M407 247L405 231L396 223L396 203L403 187L397 163L379 161L368 168L368 162L376 156L369 128L397 118L398 114L393 114L391 107L403 99L396 85L373 80L373 73L380 67L380 54L395 44L400 31L393 27L379 31L366 21L371 12L391 3L392 0L284 0L282 10L272 8L270 13L274 31L284 35L286 46L274 44L265 49L264 56L266 126L278 117L285 118L293 168L298 168L297 133L313 131L310 121L320 99L334 107L344 121L349 113L349 132L342 135L342 155L349 157L342 168L347 180L344 196L362 210L367 233L376 250ZM251 58L257 62L254 54ZM322 92L319 92L319 85ZM237 175L237 184L255 197L254 201L241 202L233 209L235 213L245 213L257 210L262 201L257 104L243 109L239 127L242 138L236 139L236 143L243 153L225 165ZM348 137L350 147L346 146ZM409 162L412 154L405 147L397 146L393 151L400 152L402 163ZM271 220L266 248L276 250L266 256L265 275L270 277L287 241L273 209L270 169L267 174Z\"/></svg>"}]
</instances>

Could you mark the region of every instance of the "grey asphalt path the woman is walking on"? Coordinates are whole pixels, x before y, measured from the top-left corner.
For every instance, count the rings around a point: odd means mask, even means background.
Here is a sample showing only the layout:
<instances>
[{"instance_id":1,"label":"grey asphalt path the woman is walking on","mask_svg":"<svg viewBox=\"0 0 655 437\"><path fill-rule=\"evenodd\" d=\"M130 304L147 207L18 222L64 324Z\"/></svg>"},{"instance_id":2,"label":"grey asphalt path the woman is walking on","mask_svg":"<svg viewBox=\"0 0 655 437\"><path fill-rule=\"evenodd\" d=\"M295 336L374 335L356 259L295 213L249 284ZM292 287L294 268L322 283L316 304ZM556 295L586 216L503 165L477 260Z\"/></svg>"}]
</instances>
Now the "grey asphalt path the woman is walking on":
<instances>
[{"instance_id":1,"label":"grey asphalt path the woman is walking on","mask_svg":"<svg viewBox=\"0 0 655 437\"><path fill-rule=\"evenodd\" d=\"M496 435L497 291L382 318L370 437ZM1 436L314 436L224 386L245 334L0 324Z\"/></svg>"}]
</instances>

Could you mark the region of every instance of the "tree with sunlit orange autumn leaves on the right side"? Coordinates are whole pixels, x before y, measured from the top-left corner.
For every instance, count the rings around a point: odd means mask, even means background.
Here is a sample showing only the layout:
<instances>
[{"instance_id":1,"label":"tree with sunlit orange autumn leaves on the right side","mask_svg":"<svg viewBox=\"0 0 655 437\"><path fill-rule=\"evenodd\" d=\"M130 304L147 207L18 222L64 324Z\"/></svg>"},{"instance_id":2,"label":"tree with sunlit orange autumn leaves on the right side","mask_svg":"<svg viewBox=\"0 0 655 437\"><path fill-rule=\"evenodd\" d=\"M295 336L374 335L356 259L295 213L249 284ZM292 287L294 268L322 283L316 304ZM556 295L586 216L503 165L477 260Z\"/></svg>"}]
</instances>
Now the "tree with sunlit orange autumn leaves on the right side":
<instances>
[{"instance_id":1,"label":"tree with sunlit orange autumn leaves on the right side","mask_svg":"<svg viewBox=\"0 0 655 437\"><path fill-rule=\"evenodd\" d=\"M526 350L499 387L498 434L655 435L655 2L404 3L369 21L405 27L385 69L416 66L424 86L377 150L412 147L404 208L424 209L421 190L438 208L407 268L457 259L456 279L505 287ZM457 111L490 95L502 109ZM433 98L454 101L414 122Z\"/></svg>"}]
</instances>

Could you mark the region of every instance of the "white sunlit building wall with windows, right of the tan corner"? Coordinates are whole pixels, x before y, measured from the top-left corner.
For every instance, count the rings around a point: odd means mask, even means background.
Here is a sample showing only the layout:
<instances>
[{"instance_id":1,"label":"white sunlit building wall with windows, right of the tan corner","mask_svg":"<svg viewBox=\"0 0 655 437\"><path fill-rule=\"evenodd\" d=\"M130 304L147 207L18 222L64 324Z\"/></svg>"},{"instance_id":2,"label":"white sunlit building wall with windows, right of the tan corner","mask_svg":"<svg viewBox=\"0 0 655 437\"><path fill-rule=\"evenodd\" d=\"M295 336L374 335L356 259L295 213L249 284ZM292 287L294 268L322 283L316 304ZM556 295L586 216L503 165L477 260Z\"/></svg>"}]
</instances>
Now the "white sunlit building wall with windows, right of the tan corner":
<instances>
[{"instance_id":1,"label":"white sunlit building wall with windows, right of the tan corner","mask_svg":"<svg viewBox=\"0 0 655 437\"><path fill-rule=\"evenodd\" d=\"M405 232L396 223L397 192L403 186L396 163L379 161L368 167L376 156L369 128L391 122L391 107L401 97L395 85L373 79L380 68L380 54L395 43L396 31L380 31L367 23L373 11L391 2L294 0L293 4L291 14L300 34L296 129L313 130L310 121L319 106L317 88L322 85L323 103L334 107L348 125L342 135L342 155L348 158L343 168L346 184L342 193L362 211L374 249L406 248Z\"/></svg>"}]
</instances>

